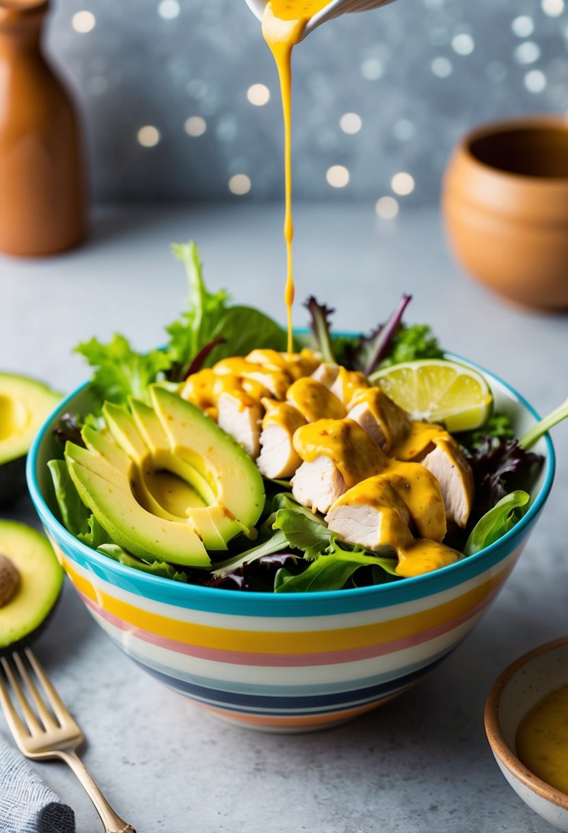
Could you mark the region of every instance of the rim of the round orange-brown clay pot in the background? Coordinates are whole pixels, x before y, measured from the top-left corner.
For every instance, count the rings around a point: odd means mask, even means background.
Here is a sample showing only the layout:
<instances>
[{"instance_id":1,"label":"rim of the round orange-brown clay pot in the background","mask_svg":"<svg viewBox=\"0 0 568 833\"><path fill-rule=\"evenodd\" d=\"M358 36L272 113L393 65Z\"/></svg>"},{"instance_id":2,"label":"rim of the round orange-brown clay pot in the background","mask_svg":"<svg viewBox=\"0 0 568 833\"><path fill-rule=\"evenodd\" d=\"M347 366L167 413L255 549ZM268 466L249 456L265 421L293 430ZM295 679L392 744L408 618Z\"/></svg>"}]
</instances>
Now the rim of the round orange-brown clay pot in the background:
<instances>
[{"instance_id":1,"label":"rim of the round orange-brown clay pot in the background","mask_svg":"<svg viewBox=\"0 0 568 833\"><path fill-rule=\"evenodd\" d=\"M489 162L484 162L471 150L475 142L479 142L481 139L488 137L496 137L500 134L515 130L533 130L534 132L538 132L539 130L550 130L551 128L559 132L566 132L566 137L568 138L568 114L563 116L561 113L536 113L529 116L499 119L496 122L484 122L461 137L456 150L462 157L466 158L469 164L478 167L481 171L489 173L494 177L500 177L506 182L522 182L524 187L529 186L531 183L539 187L568 187L568 177L566 176L536 177L533 174L506 171L501 167L491 165Z\"/></svg>"}]
</instances>

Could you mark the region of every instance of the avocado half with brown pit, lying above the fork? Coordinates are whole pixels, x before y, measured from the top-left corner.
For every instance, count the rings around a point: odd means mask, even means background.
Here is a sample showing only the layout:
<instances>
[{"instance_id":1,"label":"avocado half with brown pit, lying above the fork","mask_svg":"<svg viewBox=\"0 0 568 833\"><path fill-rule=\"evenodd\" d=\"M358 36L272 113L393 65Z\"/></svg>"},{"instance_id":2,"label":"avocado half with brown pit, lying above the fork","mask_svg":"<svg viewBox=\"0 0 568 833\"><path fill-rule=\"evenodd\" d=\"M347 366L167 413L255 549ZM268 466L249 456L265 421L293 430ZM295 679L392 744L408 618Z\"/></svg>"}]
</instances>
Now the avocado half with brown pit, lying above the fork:
<instances>
[{"instance_id":1,"label":"avocado half with brown pit, lying above the fork","mask_svg":"<svg viewBox=\"0 0 568 833\"><path fill-rule=\"evenodd\" d=\"M59 598L62 567L31 526L0 521L0 655L27 645Z\"/></svg>"}]
</instances>

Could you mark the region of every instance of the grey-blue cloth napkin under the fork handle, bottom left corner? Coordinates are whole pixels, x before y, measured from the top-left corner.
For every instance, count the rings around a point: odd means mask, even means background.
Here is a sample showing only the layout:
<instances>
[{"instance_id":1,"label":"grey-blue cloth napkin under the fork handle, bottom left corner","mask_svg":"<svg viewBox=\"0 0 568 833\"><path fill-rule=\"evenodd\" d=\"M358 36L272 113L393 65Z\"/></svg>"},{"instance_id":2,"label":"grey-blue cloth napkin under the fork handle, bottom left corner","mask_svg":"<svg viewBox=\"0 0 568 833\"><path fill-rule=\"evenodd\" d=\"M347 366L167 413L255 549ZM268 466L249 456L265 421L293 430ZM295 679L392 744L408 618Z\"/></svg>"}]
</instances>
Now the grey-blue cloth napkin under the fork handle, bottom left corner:
<instances>
[{"instance_id":1,"label":"grey-blue cloth napkin under the fork handle, bottom left corner","mask_svg":"<svg viewBox=\"0 0 568 833\"><path fill-rule=\"evenodd\" d=\"M75 833L75 815L0 739L0 833Z\"/></svg>"}]
</instances>

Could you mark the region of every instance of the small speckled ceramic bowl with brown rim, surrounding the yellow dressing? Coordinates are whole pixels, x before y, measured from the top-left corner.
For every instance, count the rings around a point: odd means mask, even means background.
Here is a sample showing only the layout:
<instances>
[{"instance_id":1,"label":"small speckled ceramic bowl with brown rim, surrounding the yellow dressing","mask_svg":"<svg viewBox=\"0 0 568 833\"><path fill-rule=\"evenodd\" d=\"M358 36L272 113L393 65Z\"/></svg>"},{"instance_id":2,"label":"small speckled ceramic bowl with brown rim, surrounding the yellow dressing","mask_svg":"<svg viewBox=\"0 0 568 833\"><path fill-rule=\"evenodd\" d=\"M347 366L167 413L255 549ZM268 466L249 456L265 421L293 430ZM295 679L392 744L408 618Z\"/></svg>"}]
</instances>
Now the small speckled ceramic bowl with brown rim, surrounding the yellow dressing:
<instances>
[{"instance_id":1,"label":"small speckled ceramic bowl with brown rim, surrounding the yellow dressing","mask_svg":"<svg viewBox=\"0 0 568 833\"><path fill-rule=\"evenodd\" d=\"M506 780L551 825L568 833L568 795L541 781L516 756L522 718L542 697L568 686L568 636L530 651L506 668L486 701L487 739Z\"/></svg>"}]
</instances>

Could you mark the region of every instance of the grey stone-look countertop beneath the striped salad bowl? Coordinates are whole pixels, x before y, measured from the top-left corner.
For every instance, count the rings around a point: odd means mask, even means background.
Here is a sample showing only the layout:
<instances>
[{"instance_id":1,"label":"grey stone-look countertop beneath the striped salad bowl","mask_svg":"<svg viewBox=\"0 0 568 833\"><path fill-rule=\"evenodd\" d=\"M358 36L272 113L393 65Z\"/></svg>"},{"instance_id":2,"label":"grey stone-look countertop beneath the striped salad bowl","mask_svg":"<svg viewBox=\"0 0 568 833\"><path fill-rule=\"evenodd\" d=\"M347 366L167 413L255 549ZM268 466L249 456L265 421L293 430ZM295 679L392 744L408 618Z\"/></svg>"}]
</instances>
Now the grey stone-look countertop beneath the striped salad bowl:
<instances>
[{"instance_id":1,"label":"grey stone-look countertop beneath the striped salad bowl","mask_svg":"<svg viewBox=\"0 0 568 833\"><path fill-rule=\"evenodd\" d=\"M540 412L566 398L568 318L510 307L451 262L435 210L378 222L372 206L296 208L297 297L336 307L336 325L370 328L401 292L408 322L430 322L444 347L506 378ZM200 243L212 287L282 319L282 209L102 209L90 242L50 260L0 259L0 367L69 391L86 377L71 349L119 330L137 347L163 341L186 295L168 244ZM296 309L296 322L305 323ZM423 833L551 830L506 785L483 729L496 675L566 634L568 425L553 434L556 484L501 595L466 642L397 701L336 729L262 735L228 726L127 660L69 586L37 644L89 744L84 761L138 833ZM37 524L27 499L4 513ZM0 732L7 728L0 720ZM100 830L71 771L37 766Z\"/></svg>"}]
</instances>

